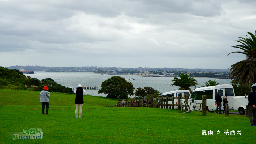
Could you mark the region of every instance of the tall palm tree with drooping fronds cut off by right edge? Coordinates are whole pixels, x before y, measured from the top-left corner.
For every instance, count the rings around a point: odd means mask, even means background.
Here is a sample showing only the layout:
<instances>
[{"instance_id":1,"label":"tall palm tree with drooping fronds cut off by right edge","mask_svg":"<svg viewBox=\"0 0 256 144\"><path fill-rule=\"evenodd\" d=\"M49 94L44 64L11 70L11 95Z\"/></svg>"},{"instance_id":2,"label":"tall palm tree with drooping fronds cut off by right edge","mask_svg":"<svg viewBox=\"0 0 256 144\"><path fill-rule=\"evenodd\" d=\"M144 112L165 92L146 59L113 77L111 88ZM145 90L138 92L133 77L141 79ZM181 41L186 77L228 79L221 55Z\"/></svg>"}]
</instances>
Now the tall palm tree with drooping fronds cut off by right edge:
<instances>
[{"instance_id":1,"label":"tall palm tree with drooping fronds cut off by right edge","mask_svg":"<svg viewBox=\"0 0 256 144\"><path fill-rule=\"evenodd\" d=\"M231 65L229 73L231 79L234 79L233 82L238 80L240 84L249 82L251 85L252 83L256 83L256 30L255 35L250 32L248 32L248 34L251 38L247 35L248 38L240 37L241 39L236 42L240 42L241 45L232 46L233 48L242 50L242 52L236 51L232 53L242 53L245 55L246 59Z\"/></svg>"}]
</instances>

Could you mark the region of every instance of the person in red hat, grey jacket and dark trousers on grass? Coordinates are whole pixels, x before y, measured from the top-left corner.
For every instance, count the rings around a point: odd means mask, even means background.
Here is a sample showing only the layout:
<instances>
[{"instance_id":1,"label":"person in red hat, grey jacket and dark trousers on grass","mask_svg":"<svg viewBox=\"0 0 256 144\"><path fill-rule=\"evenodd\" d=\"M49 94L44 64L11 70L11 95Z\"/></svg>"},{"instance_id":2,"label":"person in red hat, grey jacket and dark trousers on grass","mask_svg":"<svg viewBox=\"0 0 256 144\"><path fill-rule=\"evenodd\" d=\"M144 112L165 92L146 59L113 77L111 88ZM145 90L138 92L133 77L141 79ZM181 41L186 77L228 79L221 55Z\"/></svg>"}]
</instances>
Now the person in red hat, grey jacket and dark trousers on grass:
<instances>
[{"instance_id":1,"label":"person in red hat, grey jacket and dark trousers on grass","mask_svg":"<svg viewBox=\"0 0 256 144\"><path fill-rule=\"evenodd\" d=\"M48 115L48 109L49 109L49 97L50 94L48 94L49 88L47 86L44 86L43 90L40 92L40 102L42 102L42 112L45 114L45 105L46 105L46 115Z\"/></svg>"}]
</instances>

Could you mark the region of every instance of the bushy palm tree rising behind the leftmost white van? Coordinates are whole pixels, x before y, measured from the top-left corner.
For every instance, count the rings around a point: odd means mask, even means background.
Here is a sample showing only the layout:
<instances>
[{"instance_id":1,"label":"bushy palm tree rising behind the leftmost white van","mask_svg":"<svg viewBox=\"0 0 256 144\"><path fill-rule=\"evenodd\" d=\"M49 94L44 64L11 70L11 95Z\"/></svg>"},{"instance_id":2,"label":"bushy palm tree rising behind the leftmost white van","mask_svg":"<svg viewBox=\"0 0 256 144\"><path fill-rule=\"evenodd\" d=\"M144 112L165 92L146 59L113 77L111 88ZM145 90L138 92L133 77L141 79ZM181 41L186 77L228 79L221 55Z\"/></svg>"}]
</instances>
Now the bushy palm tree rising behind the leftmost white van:
<instances>
[{"instance_id":1,"label":"bushy palm tree rising behind the leftmost white van","mask_svg":"<svg viewBox=\"0 0 256 144\"><path fill-rule=\"evenodd\" d=\"M194 86L196 88L196 85L199 84L197 80L195 80L192 76L189 77L187 73L181 73L179 76L180 79L174 77L174 79L172 80L173 83L171 83L170 86L179 86L179 90L189 90L190 93L192 93L190 87Z\"/></svg>"}]
</instances>

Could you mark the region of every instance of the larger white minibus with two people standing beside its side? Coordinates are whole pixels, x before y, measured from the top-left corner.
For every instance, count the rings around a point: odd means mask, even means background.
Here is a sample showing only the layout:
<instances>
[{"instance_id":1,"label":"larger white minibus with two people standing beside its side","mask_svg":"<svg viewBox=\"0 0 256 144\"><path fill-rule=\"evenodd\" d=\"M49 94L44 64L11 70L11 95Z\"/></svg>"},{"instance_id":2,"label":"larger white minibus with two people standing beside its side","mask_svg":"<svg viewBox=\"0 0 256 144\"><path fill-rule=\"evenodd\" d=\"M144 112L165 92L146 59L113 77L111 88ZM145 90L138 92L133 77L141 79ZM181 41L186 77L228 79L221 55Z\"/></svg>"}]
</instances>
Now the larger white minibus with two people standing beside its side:
<instances>
[{"instance_id":1,"label":"larger white minibus with two people standing beside its side","mask_svg":"<svg viewBox=\"0 0 256 144\"><path fill-rule=\"evenodd\" d=\"M234 93L234 88L230 84L222 84L222 85L217 85L217 86L210 86L210 87L200 87L196 88L193 90L192 93L192 101L197 102L197 103L202 103L202 95L207 96L206 100L206 108L207 112L209 111L216 111L216 101L215 101L215 96L217 95L217 92L220 92L221 94L221 110L224 111L224 106L223 106L223 96L225 96L225 93L227 93L227 101L229 102L229 110L233 110L233 97L235 97ZM195 108L195 104L194 104ZM195 109L199 109L199 106ZM199 110L199 111L202 111Z\"/></svg>"}]
</instances>

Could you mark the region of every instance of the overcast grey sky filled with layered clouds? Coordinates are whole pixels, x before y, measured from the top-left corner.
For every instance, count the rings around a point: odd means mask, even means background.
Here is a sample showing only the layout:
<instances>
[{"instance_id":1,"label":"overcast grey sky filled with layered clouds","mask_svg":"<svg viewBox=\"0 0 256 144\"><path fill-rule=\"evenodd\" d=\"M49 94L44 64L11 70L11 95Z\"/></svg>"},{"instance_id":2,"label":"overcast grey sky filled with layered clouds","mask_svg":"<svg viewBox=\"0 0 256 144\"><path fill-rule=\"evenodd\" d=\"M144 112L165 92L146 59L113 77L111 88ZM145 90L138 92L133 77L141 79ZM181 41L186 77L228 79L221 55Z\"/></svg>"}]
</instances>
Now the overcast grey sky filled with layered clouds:
<instances>
[{"instance_id":1,"label":"overcast grey sky filled with layered clouds","mask_svg":"<svg viewBox=\"0 0 256 144\"><path fill-rule=\"evenodd\" d=\"M0 65L228 69L255 0L0 0Z\"/></svg>"}]
</instances>

